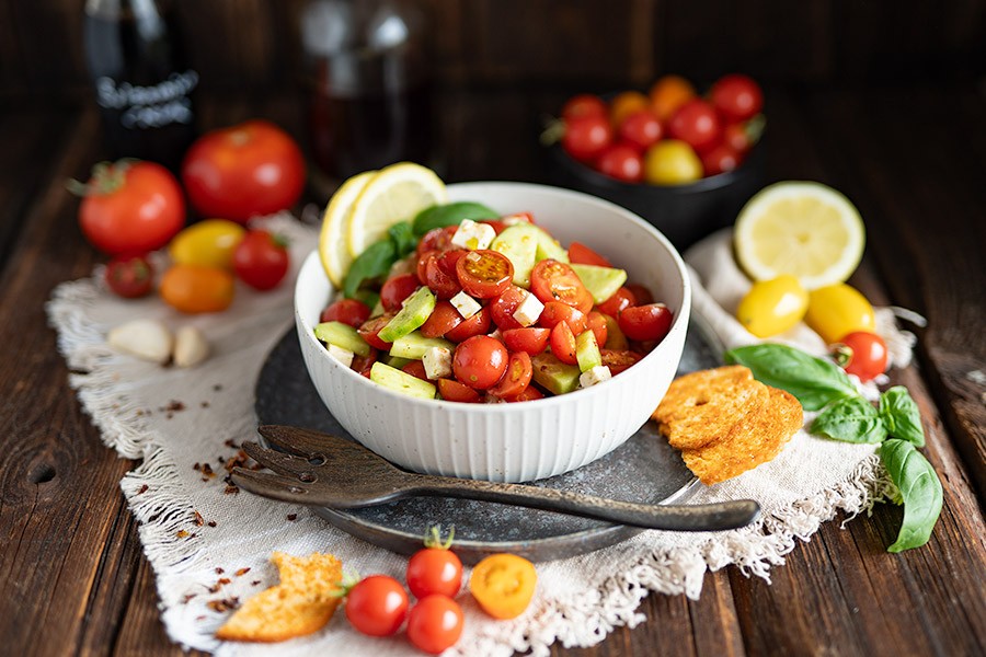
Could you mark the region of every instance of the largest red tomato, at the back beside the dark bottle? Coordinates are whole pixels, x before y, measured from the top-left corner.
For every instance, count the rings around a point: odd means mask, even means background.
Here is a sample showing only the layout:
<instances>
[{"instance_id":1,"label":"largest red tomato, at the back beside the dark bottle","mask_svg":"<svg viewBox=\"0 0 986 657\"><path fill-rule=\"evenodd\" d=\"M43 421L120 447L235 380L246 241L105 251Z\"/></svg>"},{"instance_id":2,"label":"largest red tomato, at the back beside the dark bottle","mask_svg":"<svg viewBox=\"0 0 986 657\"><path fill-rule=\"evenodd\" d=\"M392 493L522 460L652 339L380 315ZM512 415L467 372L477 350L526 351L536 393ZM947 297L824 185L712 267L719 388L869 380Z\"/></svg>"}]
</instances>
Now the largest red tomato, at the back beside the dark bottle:
<instances>
[{"instance_id":1,"label":"largest red tomato, at the back beside the dark bottle","mask_svg":"<svg viewBox=\"0 0 986 657\"><path fill-rule=\"evenodd\" d=\"M305 159L287 132L266 120L248 120L193 143L182 182L199 215L244 223L297 203Z\"/></svg>"}]
</instances>

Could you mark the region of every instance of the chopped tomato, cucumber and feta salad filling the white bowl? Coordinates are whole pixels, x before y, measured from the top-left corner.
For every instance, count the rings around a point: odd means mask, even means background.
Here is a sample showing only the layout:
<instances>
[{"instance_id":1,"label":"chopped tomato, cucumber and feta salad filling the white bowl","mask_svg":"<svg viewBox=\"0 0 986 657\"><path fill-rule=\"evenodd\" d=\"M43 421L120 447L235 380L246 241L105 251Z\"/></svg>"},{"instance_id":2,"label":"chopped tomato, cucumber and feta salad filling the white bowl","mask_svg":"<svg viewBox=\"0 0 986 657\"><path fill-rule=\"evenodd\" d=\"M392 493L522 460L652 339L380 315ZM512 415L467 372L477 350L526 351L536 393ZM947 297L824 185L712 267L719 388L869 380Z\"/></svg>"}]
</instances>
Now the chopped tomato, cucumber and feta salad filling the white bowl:
<instances>
[{"instance_id":1,"label":"chopped tomato, cucumber and feta salad filling the white bowl","mask_svg":"<svg viewBox=\"0 0 986 657\"><path fill-rule=\"evenodd\" d=\"M529 214L447 223L379 287L351 285L351 272L348 298L316 327L330 354L412 396L521 402L601 383L670 330L650 290L584 244L563 249Z\"/></svg>"}]
</instances>

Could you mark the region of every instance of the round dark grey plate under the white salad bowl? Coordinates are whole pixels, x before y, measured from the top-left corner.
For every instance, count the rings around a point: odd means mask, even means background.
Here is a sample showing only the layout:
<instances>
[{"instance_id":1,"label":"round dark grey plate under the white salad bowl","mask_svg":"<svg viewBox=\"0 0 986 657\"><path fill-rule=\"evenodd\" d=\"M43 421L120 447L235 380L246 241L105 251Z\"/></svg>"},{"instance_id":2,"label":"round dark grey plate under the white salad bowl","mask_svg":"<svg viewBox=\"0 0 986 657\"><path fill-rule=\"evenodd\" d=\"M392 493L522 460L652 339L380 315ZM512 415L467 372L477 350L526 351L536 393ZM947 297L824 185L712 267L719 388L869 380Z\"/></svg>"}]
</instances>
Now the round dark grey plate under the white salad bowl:
<instances>
[{"instance_id":1,"label":"round dark grey plate under the white salad bowl","mask_svg":"<svg viewBox=\"0 0 986 657\"><path fill-rule=\"evenodd\" d=\"M720 364L722 349L692 320L685 341L679 373ZM295 330L271 351L256 382L260 424L294 425L349 437L329 413L308 378ZM687 499L697 480L678 452L647 422L622 446L574 472L534 482L534 485L589 495L669 504ZM455 526L456 552L475 563L497 552L513 552L531 561L550 561L599 550L628 539L641 529L521 507L420 497L365 509L313 509L340 529L394 552L412 554L432 525Z\"/></svg>"}]
</instances>

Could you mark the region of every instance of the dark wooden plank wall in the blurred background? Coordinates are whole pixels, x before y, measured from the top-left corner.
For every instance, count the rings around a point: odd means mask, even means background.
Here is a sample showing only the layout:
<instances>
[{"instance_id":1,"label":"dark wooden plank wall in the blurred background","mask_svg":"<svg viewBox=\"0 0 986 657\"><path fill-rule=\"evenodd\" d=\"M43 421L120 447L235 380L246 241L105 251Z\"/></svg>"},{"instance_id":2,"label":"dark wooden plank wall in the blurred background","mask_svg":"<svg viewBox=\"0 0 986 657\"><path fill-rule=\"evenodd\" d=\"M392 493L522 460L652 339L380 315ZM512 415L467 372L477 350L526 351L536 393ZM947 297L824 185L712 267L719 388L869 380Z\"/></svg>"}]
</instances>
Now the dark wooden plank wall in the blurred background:
<instances>
[{"instance_id":1,"label":"dark wooden plank wall in the blurred background","mask_svg":"<svg viewBox=\"0 0 986 657\"><path fill-rule=\"evenodd\" d=\"M88 93L84 0L0 0L0 102ZM645 84L727 70L765 84L986 74L986 0L422 0L447 84ZM175 0L203 89L297 82L303 0Z\"/></svg>"}]
</instances>

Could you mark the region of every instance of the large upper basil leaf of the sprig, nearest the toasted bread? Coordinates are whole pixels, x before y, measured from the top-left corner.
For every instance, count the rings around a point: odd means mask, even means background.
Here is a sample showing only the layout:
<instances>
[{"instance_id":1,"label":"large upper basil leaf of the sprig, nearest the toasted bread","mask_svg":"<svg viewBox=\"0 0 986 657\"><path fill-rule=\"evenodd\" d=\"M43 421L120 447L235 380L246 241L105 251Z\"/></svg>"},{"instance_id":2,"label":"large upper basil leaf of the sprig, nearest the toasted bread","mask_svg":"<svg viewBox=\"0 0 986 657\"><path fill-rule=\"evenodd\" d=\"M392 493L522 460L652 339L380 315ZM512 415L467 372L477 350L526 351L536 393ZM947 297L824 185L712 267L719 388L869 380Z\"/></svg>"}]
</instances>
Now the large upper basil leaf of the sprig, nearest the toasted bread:
<instances>
[{"instance_id":1,"label":"large upper basil leaf of the sprig, nearest the toasted bread","mask_svg":"<svg viewBox=\"0 0 986 657\"><path fill-rule=\"evenodd\" d=\"M787 345L759 344L725 353L727 364L744 365L758 381L787 390L805 411L818 411L859 393L836 364Z\"/></svg>"}]
</instances>

